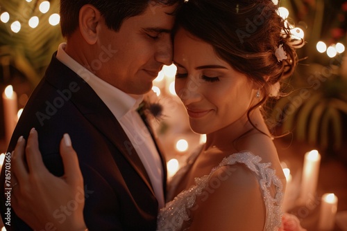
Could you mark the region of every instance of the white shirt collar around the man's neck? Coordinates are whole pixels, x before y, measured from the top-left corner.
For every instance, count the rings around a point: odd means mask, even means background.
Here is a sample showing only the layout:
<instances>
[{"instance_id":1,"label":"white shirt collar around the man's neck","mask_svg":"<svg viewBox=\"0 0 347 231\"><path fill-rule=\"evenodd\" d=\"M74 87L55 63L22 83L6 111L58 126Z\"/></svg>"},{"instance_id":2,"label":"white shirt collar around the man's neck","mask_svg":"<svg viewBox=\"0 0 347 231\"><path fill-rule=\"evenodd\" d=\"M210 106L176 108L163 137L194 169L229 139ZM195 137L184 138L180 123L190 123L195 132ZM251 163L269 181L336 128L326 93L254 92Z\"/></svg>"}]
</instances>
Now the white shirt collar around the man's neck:
<instances>
[{"instance_id":1,"label":"white shirt collar around the man's neck","mask_svg":"<svg viewBox=\"0 0 347 231\"><path fill-rule=\"evenodd\" d=\"M144 95L131 95L117 89L108 82L94 75L87 68L76 62L65 52L66 43L59 45L57 59L70 68L74 73L83 78L92 87L97 95L103 100L113 115L119 120L128 111L136 110L144 99ZM115 76L116 77L116 76ZM86 99L87 100L87 99Z\"/></svg>"}]
</instances>

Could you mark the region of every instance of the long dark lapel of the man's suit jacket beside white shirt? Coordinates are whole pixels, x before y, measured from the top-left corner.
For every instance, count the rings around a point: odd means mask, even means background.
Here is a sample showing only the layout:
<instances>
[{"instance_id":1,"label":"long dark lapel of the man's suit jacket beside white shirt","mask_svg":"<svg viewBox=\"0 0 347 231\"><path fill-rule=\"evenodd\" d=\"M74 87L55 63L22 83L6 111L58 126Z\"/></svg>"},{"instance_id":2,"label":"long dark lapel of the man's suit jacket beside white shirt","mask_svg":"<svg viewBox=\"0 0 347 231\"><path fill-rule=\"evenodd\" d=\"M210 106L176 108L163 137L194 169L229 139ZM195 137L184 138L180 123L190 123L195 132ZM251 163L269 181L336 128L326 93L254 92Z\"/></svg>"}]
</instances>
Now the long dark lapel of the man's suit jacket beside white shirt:
<instances>
[{"instance_id":1,"label":"long dark lapel of the man's suit jacket beside white shirt","mask_svg":"<svg viewBox=\"0 0 347 231\"><path fill-rule=\"evenodd\" d=\"M58 73L57 70L59 70ZM60 91L69 89L71 83L78 86L74 85L78 91L75 91L71 95L70 101L75 104L78 110L81 111L96 129L103 133L119 149L124 158L128 160L154 195L149 176L135 148L128 136L126 136L118 120L99 96L96 95L94 90L81 77L59 62L56 59L56 54L53 55L51 65L47 68L46 72L46 80L53 86L56 86L57 89L60 89Z\"/></svg>"}]
</instances>

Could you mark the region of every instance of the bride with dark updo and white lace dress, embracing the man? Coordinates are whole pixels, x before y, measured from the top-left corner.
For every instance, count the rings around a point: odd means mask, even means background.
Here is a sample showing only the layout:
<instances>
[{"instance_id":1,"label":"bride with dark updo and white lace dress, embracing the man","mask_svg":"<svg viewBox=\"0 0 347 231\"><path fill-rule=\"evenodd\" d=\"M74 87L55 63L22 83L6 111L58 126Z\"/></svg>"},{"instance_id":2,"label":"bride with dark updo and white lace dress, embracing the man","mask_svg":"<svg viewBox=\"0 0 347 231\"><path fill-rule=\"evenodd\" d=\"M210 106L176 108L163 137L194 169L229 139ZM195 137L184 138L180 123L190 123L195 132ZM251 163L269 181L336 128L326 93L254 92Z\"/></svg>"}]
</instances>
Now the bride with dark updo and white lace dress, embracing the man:
<instances>
[{"instance_id":1,"label":"bride with dark updo and white lace dress, embracing the man","mask_svg":"<svg viewBox=\"0 0 347 231\"><path fill-rule=\"evenodd\" d=\"M174 196L159 212L158 230L280 228L286 181L261 106L280 94L280 81L291 75L298 59L296 41L277 10L271 0L189 0L178 9L176 93L192 130L207 134L207 141L171 182L169 196ZM34 129L28 146L28 162L44 169ZM15 156L23 156L24 148L20 139ZM37 201L42 211L53 206L51 201L72 198L76 186L83 188L67 134L60 151L65 176L51 175L46 184L58 186L37 192L51 196L45 203ZM20 193L15 192L15 197ZM23 203L26 206L19 207L13 201L24 221L34 218L40 225L49 221L37 207L30 208L30 201ZM80 209L65 222L87 228Z\"/></svg>"}]
</instances>

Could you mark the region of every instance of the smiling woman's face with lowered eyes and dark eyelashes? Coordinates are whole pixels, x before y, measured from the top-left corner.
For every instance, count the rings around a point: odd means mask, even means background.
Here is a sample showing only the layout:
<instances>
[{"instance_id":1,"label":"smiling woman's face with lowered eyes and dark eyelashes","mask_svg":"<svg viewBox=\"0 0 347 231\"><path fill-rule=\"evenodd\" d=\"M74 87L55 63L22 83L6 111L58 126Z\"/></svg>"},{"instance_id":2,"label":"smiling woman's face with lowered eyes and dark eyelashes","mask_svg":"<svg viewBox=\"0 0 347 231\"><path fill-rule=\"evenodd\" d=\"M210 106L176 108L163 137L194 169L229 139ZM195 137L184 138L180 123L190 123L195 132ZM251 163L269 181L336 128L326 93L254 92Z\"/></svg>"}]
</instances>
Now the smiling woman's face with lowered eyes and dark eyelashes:
<instances>
[{"instance_id":1,"label":"smiling woman's face with lowered eyes and dark eyelashes","mask_svg":"<svg viewBox=\"0 0 347 231\"><path fill-rule=\"evenodd\" d=\"M256 89L246 75L217 57L210 44L179 29L174 64L176 93L187 108L193 131L209 134L246 118Z\"/></svg>"}]
</instances>

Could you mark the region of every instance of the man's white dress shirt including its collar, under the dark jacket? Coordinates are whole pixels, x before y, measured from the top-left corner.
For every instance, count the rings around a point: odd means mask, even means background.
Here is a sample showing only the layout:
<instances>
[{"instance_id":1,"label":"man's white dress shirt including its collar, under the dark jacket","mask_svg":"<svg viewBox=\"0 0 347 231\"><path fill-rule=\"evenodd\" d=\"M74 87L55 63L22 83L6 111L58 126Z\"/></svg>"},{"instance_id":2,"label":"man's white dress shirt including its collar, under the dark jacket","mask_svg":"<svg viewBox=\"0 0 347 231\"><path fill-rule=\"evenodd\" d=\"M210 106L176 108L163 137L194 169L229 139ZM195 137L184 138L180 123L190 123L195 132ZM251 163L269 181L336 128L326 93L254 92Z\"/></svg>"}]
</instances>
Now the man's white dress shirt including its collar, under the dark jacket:
<instances>
[{"instance_id":1,"label":"man's white dress shirt including its collar, under the dark jacket","mask_svg":"<svg viewBox=\"0 0 347 231\"><path fill-rule=\"evenodd\" d=\"M65 47L65 43L60 44L57 59L82 77L115 115L149 175L159 208L164 207L162 162L149 130L136 111L144 95L124 93L115 86L108 84L108 82L101 80L101 78L67 55ZM115 73L115 77L117 77L117 73Z\"/></svg>"}]
</instances>

